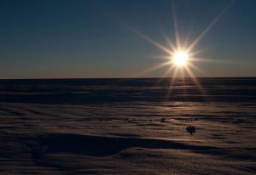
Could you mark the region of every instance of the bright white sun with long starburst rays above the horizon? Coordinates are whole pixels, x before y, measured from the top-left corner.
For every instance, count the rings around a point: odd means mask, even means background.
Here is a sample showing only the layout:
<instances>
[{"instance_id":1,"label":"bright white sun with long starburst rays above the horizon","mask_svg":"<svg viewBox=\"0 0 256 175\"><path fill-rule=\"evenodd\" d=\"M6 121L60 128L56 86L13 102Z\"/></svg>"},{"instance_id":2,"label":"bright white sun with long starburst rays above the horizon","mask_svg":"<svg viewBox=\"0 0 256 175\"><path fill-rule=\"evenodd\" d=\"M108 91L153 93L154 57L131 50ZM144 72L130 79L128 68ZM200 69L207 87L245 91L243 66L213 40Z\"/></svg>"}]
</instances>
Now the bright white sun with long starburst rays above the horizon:
<instances>
[{"instance_id":1,"label":"bright white sun with long starburst rays above the horizon","mask_svg":"<svg viewBox=\"0 0 256 175\"><path fill-rule=\"evenodd\" d=\"M231 3L230 3L231 4ZM177 16L176 11L174 8L174 4L172 5L172 16L173 16L173 26L175 31L175 41L173 39L170 39L170 37L167 37L167 35L164 33L164 37L166 37L166 42L168 42L168 46L160 44L159 42L155 42L152 38L144 35L142 32L137 31L136 29L132 28L129 25L126 25L125 23L119 21L122 25L125 25L126 27L130 28L131 31L137 33L138 36L143 37L143 39L147 40L148 42L152 43L155 47L160 48L162 51L164 51L167 55L160 55L160 58L166 59L166 61L160 65L157 65L149 70L143 71L140 74L147 73L148 71L153 71L155 69L162 68L164 66L168 66L169 68L166 70L166 73L163 75L163 77L166 76L172 76L172 81L170 84L170 87L172 87L172 84L175 82L175 77L179 76L189 76L191 79L195 82L195 84L200 87L201 92L204 92L204 89L201 87L200 82L195 77L194 71L198 71L203 75L206 75L204 71L201 71L197 66L195 66L195 61L207 61L207 59L201 59L197 58L197 54L201 53L202 50L195 50L195 46L198 44L198 42L201 41L201 39L207 34L208 31L212 29L212 26L217 23L217 21L220 19L222 15L226 13L228 8L230 8L230 4L224 8L221 13L219 13L212 22L207 25L207 28L201 32L201 34L195 38L194 41L189 42L188 40L182 41L179 36L178 26L177 26ZM186 73L186 75L184 74ZM171 89L171 88L170 88ZM169 95L168 90L168 95ZM167 95L167 97L168 97Z\"/></svg>"}]
</instances>

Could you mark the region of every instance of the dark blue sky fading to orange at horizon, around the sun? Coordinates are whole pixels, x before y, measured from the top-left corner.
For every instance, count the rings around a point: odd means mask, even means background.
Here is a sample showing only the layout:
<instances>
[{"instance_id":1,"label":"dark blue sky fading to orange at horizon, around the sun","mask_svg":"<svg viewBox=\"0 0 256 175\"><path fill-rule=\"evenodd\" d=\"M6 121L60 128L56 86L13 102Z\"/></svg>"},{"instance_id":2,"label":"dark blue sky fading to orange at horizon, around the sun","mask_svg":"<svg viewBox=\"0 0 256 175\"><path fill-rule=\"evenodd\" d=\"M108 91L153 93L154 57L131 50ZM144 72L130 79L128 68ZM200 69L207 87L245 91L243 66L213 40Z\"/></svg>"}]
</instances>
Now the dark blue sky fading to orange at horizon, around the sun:
<instances>
[{"instance_id":1,"label":"dark blue sky fading to orange at horizon, around the sun","mask_svg":"<svg viewBox=\"0 0 256 175\"><path fill-rule=\"evenodd\" d=\"M0 78L160 77L173 9L181 42L195 41L195 76L256 76L255 0L2 0ZM189 39L188 39L189 38ZM173 71L166 76L172 77Z\"/></svg>"}]
</instances>

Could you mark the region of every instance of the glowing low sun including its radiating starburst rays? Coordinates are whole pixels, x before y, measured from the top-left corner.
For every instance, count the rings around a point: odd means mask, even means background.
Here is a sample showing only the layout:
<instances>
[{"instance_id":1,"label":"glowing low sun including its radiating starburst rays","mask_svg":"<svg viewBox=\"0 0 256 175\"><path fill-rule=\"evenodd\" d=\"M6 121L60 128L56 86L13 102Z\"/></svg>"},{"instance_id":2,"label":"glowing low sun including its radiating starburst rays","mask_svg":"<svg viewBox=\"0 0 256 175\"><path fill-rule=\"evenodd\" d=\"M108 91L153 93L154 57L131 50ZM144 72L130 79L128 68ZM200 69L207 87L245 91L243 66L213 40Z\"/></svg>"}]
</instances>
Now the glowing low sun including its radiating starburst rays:
<instances>
[{"instance_id":1,"label":"glowing low sun including its radiating starburst rays","mask_svg":"<svg viewBox=\"0 0 256 175\"><path fill-rule=\"evenodd\" d=\"M172 2L173 3L173 2ZM195 39L191 40L192 36L187 35L187 37L183 37L179 35L178 25L177 25L177 15L176 10L174 8L174 4L172 4L172 17L173 17L173 31L174 35L173 40L168 37L164 31L162 31L163 36L166 39L166 45L163 45L159 42L154 41L154 39L144 35L142 32L137 31L135 28L131 27L130 25L125 24L122 21L119 21L122 25L128 27L131 31L136 33L139 37L142 37L144 40L150 42L156 48L160 48L161 51L165 52L165 55L158 55L157 57L160 59L164 59L162 63L156 65L148 70L142 71L139 74L145 74L149 71L154 71L163 67L168 67L164 72L163 76L160 77L160 81L169 77L172 73L171 81L169 82L169 88L167 91L166 99L169 99L169 96L172 95L171 91L173 88L172 85L176 83L177 78L182 78L183 84L185 84L186 77L189 77L188 81L190 80L195 83L196 87L199 88L202 94L206 94L205 89L201 86L201 82L197 80L197 74L194 73L201 73L203 76L207 76L205 71L202 71L198 66L195 65L196 61L212 61L209 59L199 57L202 52L205 52L206 48L197 49L198 43L201 41L203 37L206 36L207 32L212 29L212 26L215 25L218 20L226 13L226 11L230 8L230 3L226 8L224 8L207 27L201 31L199 36L195 37ZM189 30L190 31L190 30ZM138 76L138 75L137 75ZM158 81L158 82L160 82Z\"/></svg>"}]
</instances>

